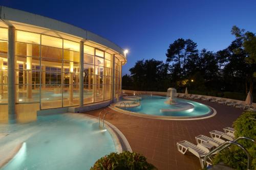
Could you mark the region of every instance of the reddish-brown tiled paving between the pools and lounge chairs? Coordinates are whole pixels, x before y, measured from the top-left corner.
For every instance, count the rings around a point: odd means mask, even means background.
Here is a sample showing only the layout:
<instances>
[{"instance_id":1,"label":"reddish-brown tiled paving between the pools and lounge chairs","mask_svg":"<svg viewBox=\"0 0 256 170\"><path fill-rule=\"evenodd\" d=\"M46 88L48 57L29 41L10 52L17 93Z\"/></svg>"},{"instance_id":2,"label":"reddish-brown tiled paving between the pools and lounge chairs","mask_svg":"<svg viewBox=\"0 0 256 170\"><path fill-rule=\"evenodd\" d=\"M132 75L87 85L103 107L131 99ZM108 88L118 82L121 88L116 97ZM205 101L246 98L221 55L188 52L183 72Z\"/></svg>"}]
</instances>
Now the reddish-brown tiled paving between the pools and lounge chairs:
<instances>
[{"instance_id":1,"label":"reddish-brown tiled paving between the pools and lounge chairs","mask_svg":"<svg viewBox=\"0 0 256 170\"><path fill-rule=\"evenodd\" d=\"M242 113L242 110L212 102L195 100L216 109L214 117L201 120L160 120L127 115L116 112L112 116L106 116L106 120L116 126L129 141L134 152L147 157L148 162L153 163L159 170L166 169L200 169L199 159L192 155L182 155L177 150L176 143L188 140L196 144L195 136L207 135L209 131L223 131L225 127L231 127L234 120ZM85 112L98 116L102 109Z\"/></svg>"}]
</instances>

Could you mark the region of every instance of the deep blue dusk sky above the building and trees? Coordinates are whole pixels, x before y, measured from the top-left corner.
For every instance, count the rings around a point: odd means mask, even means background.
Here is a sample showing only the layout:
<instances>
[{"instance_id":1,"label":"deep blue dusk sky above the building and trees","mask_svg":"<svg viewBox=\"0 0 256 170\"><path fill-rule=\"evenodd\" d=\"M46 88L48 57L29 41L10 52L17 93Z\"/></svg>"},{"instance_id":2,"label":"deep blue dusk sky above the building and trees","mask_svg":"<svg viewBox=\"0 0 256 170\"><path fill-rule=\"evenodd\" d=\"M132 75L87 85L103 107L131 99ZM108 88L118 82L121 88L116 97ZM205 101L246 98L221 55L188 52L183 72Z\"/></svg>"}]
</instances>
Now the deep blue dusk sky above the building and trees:
<instances>
[{"instance_id":1,"label":"deep blue dusk sky above the building and trees","mask_svg":"<svg viewBox=\"0 0 256 170\"><path fill-rule=\"evenodd\" d=\"M234 39L232 26L256 32L256 1L0 1L0 5L89 30L128 49L123 75L137 60L166 60L178 38L217 52Z\"/></svg>"}]
</instances>

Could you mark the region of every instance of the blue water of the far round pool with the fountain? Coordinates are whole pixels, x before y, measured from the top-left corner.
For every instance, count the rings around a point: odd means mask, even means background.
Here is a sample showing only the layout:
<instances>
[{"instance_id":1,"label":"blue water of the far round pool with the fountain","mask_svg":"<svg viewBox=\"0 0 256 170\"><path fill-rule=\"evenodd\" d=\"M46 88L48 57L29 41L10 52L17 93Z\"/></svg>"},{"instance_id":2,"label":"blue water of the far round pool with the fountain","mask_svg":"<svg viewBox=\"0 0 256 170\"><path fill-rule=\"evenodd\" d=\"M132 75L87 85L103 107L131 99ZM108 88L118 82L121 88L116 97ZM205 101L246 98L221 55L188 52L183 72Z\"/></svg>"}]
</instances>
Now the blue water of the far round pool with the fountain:
<instances>
[{"instance_id":1,"label":"blue water of the far round pool with the fountain","mask_svg":"<svg viewBox=\"0 0 256 170\"><path fill-rule=\"evenodd\" d=\"M176 99L178 105L169 105L166 102L168 99L164 96L157 95L141 95L142 100L140 106L133 108L121 108L131 112L138 112L142 114L151 114L158 116L202 116L208 114L211 109L198 102ZM183 111L162 111L162 110L175 110L182 109L182 107L192 106L193 108Z\"/></svg>"}]
</instances>

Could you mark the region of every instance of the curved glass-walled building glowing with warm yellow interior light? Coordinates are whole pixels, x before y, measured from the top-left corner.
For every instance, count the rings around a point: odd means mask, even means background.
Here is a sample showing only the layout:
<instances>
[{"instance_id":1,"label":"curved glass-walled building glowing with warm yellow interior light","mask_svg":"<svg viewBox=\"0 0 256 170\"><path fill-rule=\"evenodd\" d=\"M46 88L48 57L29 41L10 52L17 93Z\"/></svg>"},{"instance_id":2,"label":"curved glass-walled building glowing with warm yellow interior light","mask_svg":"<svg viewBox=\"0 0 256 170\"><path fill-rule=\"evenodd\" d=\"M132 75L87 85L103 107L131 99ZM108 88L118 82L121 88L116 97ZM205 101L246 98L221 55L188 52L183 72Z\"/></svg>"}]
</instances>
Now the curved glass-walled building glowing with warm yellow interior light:
<instances>
[{"instance_id":1,"label":"curved glass-walled building glowing with warm yellow interior light","mask_svg":"<svg viewBox=\"0 0 256 170\"><path fill-rule=\"evenodd\" d=\"M122 48L90 31L1 6L0 121L104 107L125 63Z\"/></svg>"}]
</instances>

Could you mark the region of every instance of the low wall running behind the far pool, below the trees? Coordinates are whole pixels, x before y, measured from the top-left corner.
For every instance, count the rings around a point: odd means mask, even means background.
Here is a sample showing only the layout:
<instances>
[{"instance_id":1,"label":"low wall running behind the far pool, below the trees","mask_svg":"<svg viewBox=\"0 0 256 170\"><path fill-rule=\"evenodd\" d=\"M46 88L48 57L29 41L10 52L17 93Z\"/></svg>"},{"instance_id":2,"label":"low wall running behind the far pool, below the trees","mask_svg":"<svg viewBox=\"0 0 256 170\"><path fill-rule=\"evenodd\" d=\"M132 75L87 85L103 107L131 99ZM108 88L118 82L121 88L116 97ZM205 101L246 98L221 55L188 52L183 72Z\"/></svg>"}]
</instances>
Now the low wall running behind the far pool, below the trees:
<instances>
[{"instance_id":1,"label":"low wall running behind the far pool, below the trees","mask_svg":"<svg viewBox=\"0 0 256 170\"><path fill-rule=\"evenodd\" d=\"M166 95L167 92L162 92L162 91L135 91L135 90L122 90L122 92L124 93L136 93L136 94L155 94L155 95ZM184 94L184 93L177 93L177 94ZM199 94L195 94L195 95L199 95ZM209 96L209 95L201 95L203 97L210 97L210 98L219 98L216 96ZM227 98L221 98L223 100L232 100L232 101L236 101L236 102L242 102L242 104L245 104L245 101L239 101L239 100L234 100L234 99L227 99ZM252 106L255 108L256 107L256 103L252 103Z\"/></svg>"}]
</instances>

